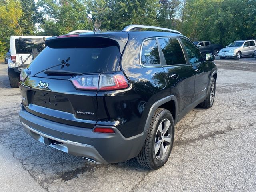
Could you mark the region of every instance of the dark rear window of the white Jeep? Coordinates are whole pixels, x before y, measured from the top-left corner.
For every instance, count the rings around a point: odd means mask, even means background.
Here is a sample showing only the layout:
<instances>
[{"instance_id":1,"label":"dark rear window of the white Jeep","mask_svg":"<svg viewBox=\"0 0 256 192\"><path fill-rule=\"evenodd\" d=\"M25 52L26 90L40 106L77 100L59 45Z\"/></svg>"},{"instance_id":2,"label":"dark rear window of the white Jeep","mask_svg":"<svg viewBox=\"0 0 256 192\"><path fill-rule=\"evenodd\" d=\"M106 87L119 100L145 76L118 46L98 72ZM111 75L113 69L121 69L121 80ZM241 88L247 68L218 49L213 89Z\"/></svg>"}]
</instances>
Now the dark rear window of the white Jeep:
<instances>
[{"instance_id":1,"label":"dark rear window of the white Jeep","mask_svg":"<svg viewBox=\"0 0 256 192\"><path fill-rule=\"evenodd\" d=\"M43 39L15 39L16 54L32 53L32 49L37 49L41 52L44 49Z\"/></svg>"}]
</instances>

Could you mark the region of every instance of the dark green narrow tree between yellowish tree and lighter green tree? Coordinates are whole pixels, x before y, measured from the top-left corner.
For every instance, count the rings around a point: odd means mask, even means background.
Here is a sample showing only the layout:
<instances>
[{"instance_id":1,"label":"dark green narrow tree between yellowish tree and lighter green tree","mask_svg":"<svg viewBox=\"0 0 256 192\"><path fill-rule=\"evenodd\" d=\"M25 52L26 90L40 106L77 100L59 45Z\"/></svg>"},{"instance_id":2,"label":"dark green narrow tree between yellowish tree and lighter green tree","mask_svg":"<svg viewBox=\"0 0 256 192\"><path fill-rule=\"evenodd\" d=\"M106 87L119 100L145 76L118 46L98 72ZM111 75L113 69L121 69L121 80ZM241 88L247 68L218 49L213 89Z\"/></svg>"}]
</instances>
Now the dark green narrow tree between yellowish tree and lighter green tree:
<instances>
[{"instance_id":1,"label":"dark green narrow tree between yellowish tree and lighter green tree","mask_svg":"<svg viewBox=\"0 0 256 192\"><path fill-rule=\"evenodd\" d=\"M23 14L19 23L23 35L34 35L36 34L36 23L40 22L42 15L39 14L34 0L20 0L20 3Z\"/></svg>"}]
</instances>

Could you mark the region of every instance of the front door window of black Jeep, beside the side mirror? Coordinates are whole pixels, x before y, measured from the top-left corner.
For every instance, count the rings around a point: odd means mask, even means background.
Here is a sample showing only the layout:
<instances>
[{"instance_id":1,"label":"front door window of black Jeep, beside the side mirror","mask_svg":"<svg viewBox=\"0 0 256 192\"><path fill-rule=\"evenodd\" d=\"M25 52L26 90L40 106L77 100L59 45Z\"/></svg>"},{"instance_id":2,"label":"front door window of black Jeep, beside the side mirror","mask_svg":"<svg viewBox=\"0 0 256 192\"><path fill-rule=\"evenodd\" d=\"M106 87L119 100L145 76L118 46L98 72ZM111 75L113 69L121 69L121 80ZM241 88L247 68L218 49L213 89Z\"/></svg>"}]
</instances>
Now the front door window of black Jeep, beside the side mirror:
<instances>
[{"instance_id":1,"label":"front door window of black Jeep, beside the side mirror","mask_svg":"<svg viewBox=\"0 0 256 192\"><path fill-rule=\"evenodd\" d=\"M194 44L183 38L181 38L181 41L184 44L184 48L188 54L189 62L191 64L203 61L200 51L194 46Z\"/></svg>"}]
</instances>

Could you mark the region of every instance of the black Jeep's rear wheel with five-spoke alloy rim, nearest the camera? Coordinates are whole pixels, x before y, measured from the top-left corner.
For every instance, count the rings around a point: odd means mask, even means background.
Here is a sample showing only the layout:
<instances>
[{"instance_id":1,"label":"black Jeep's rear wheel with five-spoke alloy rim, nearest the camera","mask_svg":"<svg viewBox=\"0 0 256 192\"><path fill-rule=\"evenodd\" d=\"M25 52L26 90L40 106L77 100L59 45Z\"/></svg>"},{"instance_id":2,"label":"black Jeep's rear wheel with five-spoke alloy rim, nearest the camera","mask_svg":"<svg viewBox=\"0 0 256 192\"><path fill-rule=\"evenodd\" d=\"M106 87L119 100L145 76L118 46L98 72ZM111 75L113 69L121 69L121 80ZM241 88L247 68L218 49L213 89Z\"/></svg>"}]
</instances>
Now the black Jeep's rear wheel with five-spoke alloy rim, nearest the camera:
<instances>
[{"instance_id":1,"label":"black Jeep's rear wheel with five-spoke alloy rim, nearest the camera","mask_svg":"<svg viewBox=\"0 0 256 192\"><path fill-rule=\"evenodd\" d=\"M163 128L161 132L158 128L162 128L163 125L166 129ZM166 130L166 132L163 134L164 130ZM173 139L174 121L172 114L166 109L158 108L154 112L144 146L136 157L140 165L152 170L156 170L164 166L172 151ZM159 146L159 148L158 151L155 152L155 147L157 146ZM161 151L164 151L165 148L166 152L164 152L164 155L162 156Z\"/></svg>"}]
</instances>

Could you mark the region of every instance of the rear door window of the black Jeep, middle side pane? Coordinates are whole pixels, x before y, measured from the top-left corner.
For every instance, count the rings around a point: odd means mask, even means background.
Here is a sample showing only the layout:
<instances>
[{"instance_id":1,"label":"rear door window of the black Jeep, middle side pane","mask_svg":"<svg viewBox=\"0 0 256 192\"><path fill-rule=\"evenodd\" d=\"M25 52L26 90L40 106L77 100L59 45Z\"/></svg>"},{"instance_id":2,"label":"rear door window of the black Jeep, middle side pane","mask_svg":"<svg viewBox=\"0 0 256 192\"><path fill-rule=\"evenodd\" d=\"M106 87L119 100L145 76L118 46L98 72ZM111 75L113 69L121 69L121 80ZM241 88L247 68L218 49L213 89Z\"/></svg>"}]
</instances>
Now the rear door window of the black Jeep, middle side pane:
<instances>
[{"instance_id":1,"label":"rear door window of the black Jeep, middle side pane","mask_svg":"<svg viewBox=\"0 0 256 192\"><path fill-rule=\"evenodd\" d=\"M176 38L159 39L167 65L186 64L182 48Z\"/></svg>"}]
</instances>

